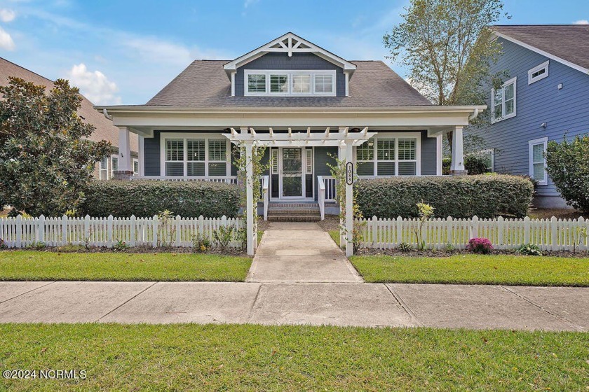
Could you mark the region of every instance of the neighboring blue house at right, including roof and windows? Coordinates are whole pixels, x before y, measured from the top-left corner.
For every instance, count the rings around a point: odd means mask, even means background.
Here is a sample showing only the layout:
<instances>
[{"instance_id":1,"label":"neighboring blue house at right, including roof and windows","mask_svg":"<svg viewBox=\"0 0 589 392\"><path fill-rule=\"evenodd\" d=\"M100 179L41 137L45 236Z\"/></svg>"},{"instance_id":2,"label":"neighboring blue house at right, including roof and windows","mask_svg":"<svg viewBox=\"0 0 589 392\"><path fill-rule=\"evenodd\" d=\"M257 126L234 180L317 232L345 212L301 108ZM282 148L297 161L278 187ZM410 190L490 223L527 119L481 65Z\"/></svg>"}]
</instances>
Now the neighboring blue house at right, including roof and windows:
<instances>
[{"instance_id":1,"label":"neighboring blue house at right, including roof and windows","mask_svg":"<svg viewBox=\"0 0 589 392\"><path fill-rule=\"evenodd\" d=\"M480 132L494 152L494 172L528 174L539 186L536 207L567 207L546 174L548 141L589 132L589 25L494 26L507 71L489 91L491 124ZM589 157L588 157L589 159Z\"/></svg>"}]
</instances>

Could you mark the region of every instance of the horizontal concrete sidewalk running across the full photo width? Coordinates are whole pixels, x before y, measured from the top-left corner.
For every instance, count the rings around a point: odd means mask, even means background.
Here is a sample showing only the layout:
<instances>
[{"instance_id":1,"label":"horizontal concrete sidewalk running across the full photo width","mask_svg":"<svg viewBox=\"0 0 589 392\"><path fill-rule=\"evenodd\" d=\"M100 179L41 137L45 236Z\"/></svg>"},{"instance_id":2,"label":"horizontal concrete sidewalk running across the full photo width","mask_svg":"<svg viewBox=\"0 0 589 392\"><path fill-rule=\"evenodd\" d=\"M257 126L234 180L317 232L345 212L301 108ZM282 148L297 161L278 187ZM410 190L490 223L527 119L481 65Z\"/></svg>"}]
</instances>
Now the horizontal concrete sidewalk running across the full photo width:
<instances>
[{"instance_id":1,"label":"horizontal concrete sidewalk running across the full photo width","mask_svg":"<svg viewBox=\"0 0 589 392\"><path fill-rule=\"evenodd\" d=\"M380 283L0 282L0 322L589 330L589 288Z\"/></svg>"}]
</instances>

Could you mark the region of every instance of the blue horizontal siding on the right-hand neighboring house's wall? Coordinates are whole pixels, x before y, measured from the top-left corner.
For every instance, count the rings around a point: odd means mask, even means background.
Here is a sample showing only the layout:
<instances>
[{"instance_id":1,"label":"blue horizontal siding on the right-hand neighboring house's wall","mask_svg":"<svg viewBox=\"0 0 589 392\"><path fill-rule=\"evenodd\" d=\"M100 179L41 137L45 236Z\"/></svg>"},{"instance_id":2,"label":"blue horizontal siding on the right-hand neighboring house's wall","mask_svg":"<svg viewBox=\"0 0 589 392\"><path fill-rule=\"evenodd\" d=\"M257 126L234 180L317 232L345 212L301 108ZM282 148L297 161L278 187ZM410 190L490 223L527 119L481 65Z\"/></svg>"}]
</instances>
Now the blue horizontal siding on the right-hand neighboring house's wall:
<instances>
[{"instance_id":1,"label":"blue horizontal siding on the right-hand neighboring house's wall","mask_svg":"<svg viewBox=\"0 0 589 392\"><path fill-rule=\"evenodd\" d=\"M548 57L503 38L499 41L504 54L492 71L508 71L506 80L517 76L516 116L489 124L478 134L485 138L488 148L496 149L496 172L527 175L528 141L542 137L562 141L565 134L572 138L589 132L589 75L550 59L548 77L528 85L527 71L548 61ZM557 88L560 83L562 90ZM490 108L490 89L488 95ZM548 126L542 128L542 123ZM537 188L537 194L562 204L550 179L547 186Z\"/></svg>"}]
</instances>

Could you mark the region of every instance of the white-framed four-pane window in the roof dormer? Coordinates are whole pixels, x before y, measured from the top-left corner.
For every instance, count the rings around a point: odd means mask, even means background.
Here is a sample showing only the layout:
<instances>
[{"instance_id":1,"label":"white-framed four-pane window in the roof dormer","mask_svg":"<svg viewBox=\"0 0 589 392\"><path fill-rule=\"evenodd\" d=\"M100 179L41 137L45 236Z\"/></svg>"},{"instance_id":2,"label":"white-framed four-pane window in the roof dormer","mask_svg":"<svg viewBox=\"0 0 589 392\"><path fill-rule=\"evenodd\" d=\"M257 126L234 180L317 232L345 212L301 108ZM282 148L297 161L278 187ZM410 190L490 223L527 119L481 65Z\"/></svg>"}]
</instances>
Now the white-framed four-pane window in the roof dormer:
<instances>
[{"instance_id":1,"label":"white-framed four-pane window in the roof dormer","mask_svg":"<svg viewBox=\"0 0 589 392\"><path fill-rule=\"evenodd\" d=\"M335 96L335 71L245 70L245 95Z\"/></svg>"}]
</instances>

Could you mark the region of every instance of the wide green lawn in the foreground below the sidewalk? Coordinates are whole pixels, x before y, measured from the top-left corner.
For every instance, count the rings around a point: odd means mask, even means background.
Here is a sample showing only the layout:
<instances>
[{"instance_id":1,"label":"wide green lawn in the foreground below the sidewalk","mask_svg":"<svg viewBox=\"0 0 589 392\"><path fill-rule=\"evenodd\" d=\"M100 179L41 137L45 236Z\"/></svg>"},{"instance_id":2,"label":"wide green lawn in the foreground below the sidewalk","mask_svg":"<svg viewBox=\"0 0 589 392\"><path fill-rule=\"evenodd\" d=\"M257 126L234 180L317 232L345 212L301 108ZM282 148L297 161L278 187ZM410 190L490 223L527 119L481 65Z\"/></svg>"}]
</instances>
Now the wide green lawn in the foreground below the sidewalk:
<instances>
[{"instance_id":1,"label":"wide green lawn in the foreground below the sidewalk","mask_svg":"<svg viewBox=\"0 0 589 392\"><path fill-rule=\"evenodd\" d=\"M588 334L261 325L0 325L12 391L585 391ZM0 384L1 385L1 384Z\"/></svg>"}]
</instances>

